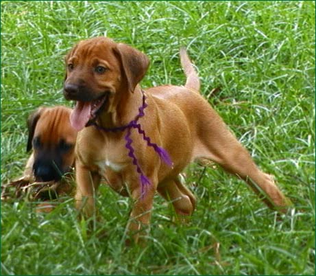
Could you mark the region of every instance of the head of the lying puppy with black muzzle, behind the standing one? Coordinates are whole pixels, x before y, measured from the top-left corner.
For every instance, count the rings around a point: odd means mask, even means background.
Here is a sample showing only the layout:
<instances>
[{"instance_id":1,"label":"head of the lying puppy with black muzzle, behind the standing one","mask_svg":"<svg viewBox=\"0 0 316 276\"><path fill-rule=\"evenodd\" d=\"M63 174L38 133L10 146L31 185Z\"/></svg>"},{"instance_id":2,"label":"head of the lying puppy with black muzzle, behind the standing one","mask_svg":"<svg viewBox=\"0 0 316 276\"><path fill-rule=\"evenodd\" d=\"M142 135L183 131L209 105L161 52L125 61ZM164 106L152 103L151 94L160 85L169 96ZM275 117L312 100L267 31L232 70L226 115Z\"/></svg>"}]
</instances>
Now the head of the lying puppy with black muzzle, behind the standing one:
<instances>
[{"instance_id":1,"label":"head of the lying puppy with black muzzle, behind the standing one","mask_svg":"<svg viewBox=\"0 0 316 276\"><path fill-rule=\"evenodd\" d=\"M75 161L77 131L70 124L71 109L38 108L27 119L27 151L33 148L36 181L59 181Z\"/></svg>"}]
</instances>

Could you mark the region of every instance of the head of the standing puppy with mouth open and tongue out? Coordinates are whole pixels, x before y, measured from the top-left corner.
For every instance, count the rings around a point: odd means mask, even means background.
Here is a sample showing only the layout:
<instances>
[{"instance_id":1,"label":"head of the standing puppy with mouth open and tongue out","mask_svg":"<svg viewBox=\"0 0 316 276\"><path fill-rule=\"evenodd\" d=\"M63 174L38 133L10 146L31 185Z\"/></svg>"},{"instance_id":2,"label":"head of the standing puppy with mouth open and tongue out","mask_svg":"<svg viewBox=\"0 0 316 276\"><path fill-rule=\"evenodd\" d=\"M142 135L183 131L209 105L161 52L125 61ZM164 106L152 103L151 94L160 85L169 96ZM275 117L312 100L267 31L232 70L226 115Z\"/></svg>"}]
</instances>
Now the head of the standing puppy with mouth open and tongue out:
<instances>
[{"instance_id":1,"label":"head of the standing puppy with mouth open and tongue out","mask_svg":"<svg viewBox=\"0 0 316 276\"><path fill-rule=\"evenodd\" d=\"M134 92L149 66L145 54L105 37L80 41L65 62L64 97L76 101L71 124L77 130L114 110L124 93Z\"/></svg>"}]
</instances>

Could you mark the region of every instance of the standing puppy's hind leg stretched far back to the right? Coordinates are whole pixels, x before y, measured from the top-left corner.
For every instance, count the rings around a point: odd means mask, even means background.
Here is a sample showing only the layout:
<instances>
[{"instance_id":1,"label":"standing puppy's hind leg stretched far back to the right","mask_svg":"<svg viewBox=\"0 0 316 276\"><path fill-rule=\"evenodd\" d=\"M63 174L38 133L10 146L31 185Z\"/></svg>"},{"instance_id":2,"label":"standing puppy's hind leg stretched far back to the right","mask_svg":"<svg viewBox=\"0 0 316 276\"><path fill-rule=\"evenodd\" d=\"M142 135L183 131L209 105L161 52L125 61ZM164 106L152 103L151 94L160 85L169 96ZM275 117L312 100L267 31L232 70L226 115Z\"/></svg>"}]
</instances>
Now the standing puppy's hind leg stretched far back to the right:
<instances>
[{"instance_id":1,"label":"standing puppy's hind leg stretched far back to the right","mask_svg":"<svg viewBox=\"0 0 316 276\"><path fill-rule=\"evenodd\" d=\"M210 112L212 121L204 120L200 125L202 131L199 131L196 156L215 161L227 172L243 179L256 194L263 196L263 201L270 208L286 212L290 201L278 189L273 177L259 170L221 117L215 111Z\"/></svg>"}]
</instances>

